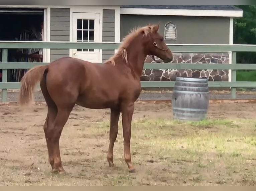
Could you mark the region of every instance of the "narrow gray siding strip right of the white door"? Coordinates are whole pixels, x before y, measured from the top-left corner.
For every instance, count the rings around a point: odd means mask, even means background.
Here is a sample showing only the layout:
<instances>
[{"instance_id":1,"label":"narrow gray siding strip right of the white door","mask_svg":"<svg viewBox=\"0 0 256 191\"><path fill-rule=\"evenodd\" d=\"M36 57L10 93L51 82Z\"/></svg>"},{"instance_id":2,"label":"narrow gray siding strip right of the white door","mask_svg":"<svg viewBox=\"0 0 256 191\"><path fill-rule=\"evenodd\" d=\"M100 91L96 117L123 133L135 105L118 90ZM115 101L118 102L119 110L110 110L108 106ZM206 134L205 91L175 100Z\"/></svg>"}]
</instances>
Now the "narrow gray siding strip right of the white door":
<instances>
[{"instance_id":1,"label":"narrow gray siding strip right of the white door","mask_svg":"<svg viewBox=\"0 0 256 191\"><path fill-rule=\"evenodd\" d=\"M102 42L115 42L115 10L103 9L102 25ZM114 54L115 50L102 50L102 62Z\"/></svg>"}]
</instances>

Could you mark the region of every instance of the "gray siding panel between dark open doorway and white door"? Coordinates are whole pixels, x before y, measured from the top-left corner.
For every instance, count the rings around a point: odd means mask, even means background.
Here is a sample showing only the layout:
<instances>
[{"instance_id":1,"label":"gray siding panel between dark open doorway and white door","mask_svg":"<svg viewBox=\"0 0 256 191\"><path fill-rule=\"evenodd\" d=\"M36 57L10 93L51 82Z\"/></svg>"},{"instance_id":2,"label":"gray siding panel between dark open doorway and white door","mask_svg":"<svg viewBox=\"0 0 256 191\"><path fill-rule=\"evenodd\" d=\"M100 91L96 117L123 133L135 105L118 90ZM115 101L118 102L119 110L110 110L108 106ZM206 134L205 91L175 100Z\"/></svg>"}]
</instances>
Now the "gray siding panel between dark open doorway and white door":
<instances>
[{"instance_id":1,"label":"gray siding panel between dark open doorway and white door","mask_svg":"<svg viewBox=\"0 0 256 191\"><path fill-rule=\"evenodd\" d=\"M50 41L70 41L70 8L51 8ZM69 56L69 49L50 50L50 62Z\"/></svg>"}]
</instances>

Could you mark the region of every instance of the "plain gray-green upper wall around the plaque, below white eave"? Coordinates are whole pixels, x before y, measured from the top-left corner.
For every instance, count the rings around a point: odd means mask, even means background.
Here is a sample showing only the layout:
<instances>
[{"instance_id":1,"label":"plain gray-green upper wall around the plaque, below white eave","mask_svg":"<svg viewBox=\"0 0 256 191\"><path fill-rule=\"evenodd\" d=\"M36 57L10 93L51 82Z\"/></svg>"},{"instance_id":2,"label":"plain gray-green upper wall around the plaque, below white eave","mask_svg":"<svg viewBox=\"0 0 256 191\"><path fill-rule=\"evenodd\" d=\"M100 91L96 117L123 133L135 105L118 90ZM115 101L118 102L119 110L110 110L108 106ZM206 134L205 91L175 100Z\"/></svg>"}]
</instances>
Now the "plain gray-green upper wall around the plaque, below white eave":
<instances>
[{"instance_id":1,"label":"plain gray-green upper wall around the plaque, below white eave","mask_svg":"<svg viewBox=\"0 0 256 191\"><path fill-rule=\"evenodd\" d=\"M229 17L188 17L156 15L121 15L121 39L136 26L158 24L164 35L164 25L172 22L177 28L177 39L166 43L174 44L229 44Z\"/></svg>"}]
</instances>

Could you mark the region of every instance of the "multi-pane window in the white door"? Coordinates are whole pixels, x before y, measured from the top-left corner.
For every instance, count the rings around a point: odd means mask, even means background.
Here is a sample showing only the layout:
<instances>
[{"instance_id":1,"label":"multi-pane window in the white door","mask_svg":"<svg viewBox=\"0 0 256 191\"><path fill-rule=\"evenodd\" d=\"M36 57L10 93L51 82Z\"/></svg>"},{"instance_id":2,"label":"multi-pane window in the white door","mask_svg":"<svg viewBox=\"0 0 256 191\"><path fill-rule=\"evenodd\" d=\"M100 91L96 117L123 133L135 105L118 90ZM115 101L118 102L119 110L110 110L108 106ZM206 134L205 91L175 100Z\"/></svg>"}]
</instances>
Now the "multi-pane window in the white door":
<instances>
[{"instance_id":1,"label":"multi-pane window in the white door","mask_svg":"<svg viewBox=\"0 0 256 191\"><path fill-rule=\"evenodd\" d=\"M94 42L95 20L77 20L77 42ZM77 49L80 52L94 52L94 49Z\"/></svg>"}]
</instances>

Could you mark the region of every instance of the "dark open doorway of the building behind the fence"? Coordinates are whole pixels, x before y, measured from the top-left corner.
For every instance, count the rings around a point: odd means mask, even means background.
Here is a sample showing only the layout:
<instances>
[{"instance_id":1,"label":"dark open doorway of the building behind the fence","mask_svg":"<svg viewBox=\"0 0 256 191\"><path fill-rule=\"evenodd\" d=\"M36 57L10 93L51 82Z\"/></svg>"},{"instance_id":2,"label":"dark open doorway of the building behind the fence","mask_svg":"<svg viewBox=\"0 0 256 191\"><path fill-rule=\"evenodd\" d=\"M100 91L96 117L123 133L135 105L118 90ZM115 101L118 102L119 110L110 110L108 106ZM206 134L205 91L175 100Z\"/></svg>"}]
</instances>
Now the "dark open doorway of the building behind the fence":
<instances>
[{"instance_id":1,"label":"dark open doorway of the building behind the fence","mask_svg":"<svg viewBox=\"0 0 256 191\"><path fill-rule=\"evenodd\" d=\"M43 9L0 9L0 41L43 41ZM2 50L0 50L2 62ZM42 62L43 49L8 49L8 62ZM9 69L7 82L19 82L28 69ZM0 70L0 78L1 78ZM0 79L2 81L2 79Z\"/></svg>"}]
</instances>

